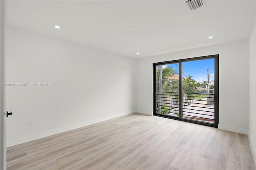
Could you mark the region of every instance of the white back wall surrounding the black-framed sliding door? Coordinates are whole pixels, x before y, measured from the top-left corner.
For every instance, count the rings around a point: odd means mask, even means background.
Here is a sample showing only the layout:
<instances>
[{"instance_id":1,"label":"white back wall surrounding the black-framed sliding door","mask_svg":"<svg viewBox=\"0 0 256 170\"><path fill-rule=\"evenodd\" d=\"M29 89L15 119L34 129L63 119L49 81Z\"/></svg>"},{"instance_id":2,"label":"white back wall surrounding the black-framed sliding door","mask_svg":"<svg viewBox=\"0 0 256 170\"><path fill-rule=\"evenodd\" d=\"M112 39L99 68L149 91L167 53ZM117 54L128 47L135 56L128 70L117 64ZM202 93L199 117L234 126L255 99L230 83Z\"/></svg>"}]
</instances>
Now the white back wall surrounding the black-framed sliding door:
<instances>
[{"instance_id":1,"label":"white back wall surrounding the black-framed sliding door","mask_svg":"<svg viewBox=\"0 0 256 170\"><path fill-rule=\"evenodd\" d=\"M152 115L152 63L219 54L219 128L248 132L248 40L178 51L137 62L137 112ZM234 119L230 119L234 115Z\"/></svg>"}]
</instances>

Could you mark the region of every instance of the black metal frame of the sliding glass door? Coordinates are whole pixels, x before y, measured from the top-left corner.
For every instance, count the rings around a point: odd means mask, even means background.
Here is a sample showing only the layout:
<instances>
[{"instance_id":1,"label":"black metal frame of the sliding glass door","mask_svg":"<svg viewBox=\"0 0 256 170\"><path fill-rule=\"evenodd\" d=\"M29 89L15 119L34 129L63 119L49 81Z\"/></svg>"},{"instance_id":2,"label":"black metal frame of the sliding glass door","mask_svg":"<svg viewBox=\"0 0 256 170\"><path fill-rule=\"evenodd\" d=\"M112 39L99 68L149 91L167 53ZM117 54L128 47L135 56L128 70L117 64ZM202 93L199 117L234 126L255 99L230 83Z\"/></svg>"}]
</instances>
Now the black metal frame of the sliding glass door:
<instances>
[{"instance_id":1,"label":"black metal frame of the sliding glass door","mask_svg":"<svg viewBox=\"0 0 256 170\"><path fill-rule=\"evenodd\" d=\"M183 119L182 114L180 114L183 112L182 111L183 110L182 100L180 100L180 99L182 99L182 93L180 93L180 92L183 91L182 90L182 63L186 62L186 61L196 61L196 60L211 59L211 58L214 58L214 94L217 95L216 100L214 101L214 124L205 123L202 121L190 120L190 119ZM179 63L179 117L172 117L172 116L161 115L161 114L156 113L156 81L155 81L156 80L156 65L164 65L164 64L170 64L170 63ZM218 123L219 123L219 54L153 63L153 115L218 128Z\"/></svg>"}]
</instances>

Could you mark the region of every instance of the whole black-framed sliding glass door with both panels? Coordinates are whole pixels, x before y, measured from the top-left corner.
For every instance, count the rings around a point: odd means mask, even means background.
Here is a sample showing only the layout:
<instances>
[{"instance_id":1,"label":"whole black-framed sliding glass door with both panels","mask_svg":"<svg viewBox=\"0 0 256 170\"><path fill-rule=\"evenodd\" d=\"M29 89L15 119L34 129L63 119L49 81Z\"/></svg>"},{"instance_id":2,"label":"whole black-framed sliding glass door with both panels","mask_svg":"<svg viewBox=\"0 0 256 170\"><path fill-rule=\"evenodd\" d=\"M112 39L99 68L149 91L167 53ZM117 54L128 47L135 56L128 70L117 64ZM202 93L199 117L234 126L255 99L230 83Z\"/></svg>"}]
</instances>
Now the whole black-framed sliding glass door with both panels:
<instances>
[{"instance_id":1,"label":"whole black-framed sliding glass door with both panels","mask_svg":"<svg viewBox=\"0 0 256 170\"><path fill-rule=\"evenodd\" d=\"M153 68L154 115L218 127L218 55Z\"/></svg>"}]
</instances>

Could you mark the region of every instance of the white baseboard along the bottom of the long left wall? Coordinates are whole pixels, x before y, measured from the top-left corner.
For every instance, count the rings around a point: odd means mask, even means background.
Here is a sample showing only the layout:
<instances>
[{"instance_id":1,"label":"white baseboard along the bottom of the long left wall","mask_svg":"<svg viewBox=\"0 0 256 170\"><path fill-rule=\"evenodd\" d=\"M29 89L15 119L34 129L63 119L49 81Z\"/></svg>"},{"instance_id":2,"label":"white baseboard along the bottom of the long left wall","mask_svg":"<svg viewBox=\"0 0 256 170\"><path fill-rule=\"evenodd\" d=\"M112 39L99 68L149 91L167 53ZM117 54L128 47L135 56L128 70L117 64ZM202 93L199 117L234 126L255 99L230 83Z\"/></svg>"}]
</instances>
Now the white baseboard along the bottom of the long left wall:
<instances>
[{"instance_id":1,"label":"white baseboard along the bottom of the long left wall","mask_svg":"<svg viewBox=\"0 0 256 170\"><path fill-rule=\"evenodd\" d=\"M14 146L14 145L21 144L21 143L24 143L24 142L29 142L31 140L44 138L46 136L50 136L50 135L53 135L53 134L66 132L68 130L73 130L73 129L76 129L76 128L92 125L94 123L107 121L109 119L114 119L114 118L121 117L121 116L124 116L124 115L129 115L129 114L132 114L132 113L135 113L135 112L134 111L128 111L128 112L113 114L113 115L109 115L109 116L105 116L105 117L100 117L100 118L97 118L97 119L92 119L92 120L76 123L74 125L59 127L59 128L55 128L55 129L51 129L51 130L46 130L46 131L43 131L43 132L28 134L28 135L25 135L25 136L19 136L17 138L12 138L12 139L7 138L6 139L6 146L7 147Z\"/></svg>"}]
</instances>

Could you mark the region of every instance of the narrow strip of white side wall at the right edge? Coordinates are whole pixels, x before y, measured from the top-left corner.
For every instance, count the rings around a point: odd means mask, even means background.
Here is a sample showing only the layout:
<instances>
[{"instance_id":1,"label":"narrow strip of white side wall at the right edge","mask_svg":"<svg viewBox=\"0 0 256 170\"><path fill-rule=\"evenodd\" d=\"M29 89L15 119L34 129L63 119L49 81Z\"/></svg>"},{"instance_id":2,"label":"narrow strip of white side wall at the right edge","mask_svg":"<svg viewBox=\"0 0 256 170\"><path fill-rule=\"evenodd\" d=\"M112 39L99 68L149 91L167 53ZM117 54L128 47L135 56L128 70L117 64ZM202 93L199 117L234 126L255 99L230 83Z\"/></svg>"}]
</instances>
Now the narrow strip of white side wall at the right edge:
<instances>
[{"instance_id":1,"label":"narrow strip of white side wall at the right edge","mask_svg":"<svg viewBox=\"0 0 256 170\"><path fill-rule=\"evenodd\" d=\"M255 23L249 38L249 130L248 136L256 161L256 40Z\"/></svg>"}]
</instances>

